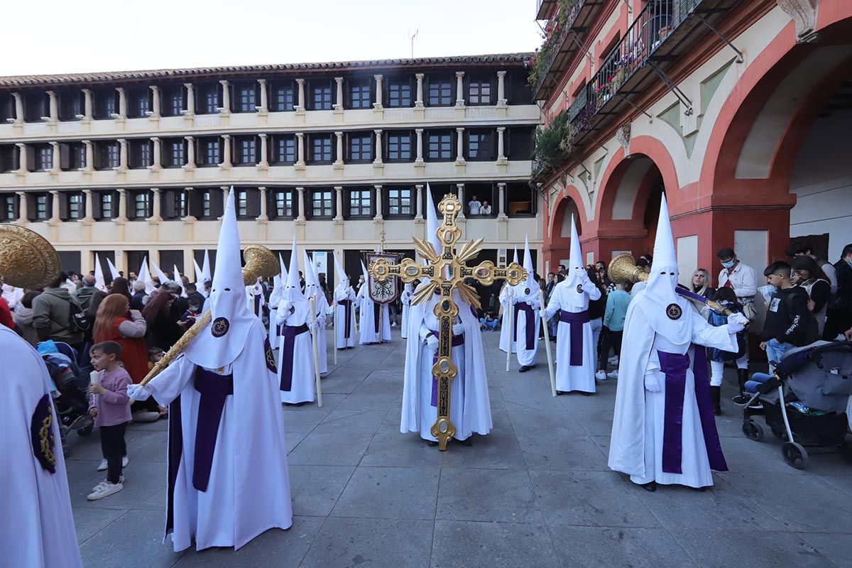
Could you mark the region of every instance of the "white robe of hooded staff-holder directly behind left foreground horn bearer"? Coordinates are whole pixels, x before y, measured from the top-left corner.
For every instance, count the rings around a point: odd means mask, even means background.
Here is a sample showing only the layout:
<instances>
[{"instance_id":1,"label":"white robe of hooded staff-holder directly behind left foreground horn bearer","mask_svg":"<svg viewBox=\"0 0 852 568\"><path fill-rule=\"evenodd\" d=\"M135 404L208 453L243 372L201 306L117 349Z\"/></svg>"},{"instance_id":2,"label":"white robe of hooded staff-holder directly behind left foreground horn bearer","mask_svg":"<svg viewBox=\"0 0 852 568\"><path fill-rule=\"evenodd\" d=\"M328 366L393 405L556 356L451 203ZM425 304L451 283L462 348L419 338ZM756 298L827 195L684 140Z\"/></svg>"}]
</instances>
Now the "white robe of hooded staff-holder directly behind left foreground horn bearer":
<instances>
[{"instance_id":1,"label":"white robe of hooded staff-holder directly behind left foreground horn bearer","mask_svg":"<svg viewBox=\"0 0 852 568\"><path fill-rule=\"evenodd\" d=\"M307 300L296 300L293 302L281 301L278 310L278 321L281 324L281 336L279 338L278 371L279 380L284 372L285 347L288 338L285 326L299 327L308 325L310 306ZM293 361L292 381L289 391L281 391L281 402L297 404L300 402L314 402L316 399L316 386L314 384L314 352L311 344L310 330L297 334L293 339Z\"/></svg>"}]
</instances>

